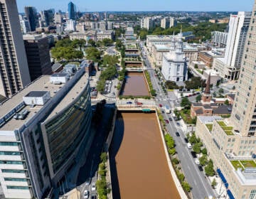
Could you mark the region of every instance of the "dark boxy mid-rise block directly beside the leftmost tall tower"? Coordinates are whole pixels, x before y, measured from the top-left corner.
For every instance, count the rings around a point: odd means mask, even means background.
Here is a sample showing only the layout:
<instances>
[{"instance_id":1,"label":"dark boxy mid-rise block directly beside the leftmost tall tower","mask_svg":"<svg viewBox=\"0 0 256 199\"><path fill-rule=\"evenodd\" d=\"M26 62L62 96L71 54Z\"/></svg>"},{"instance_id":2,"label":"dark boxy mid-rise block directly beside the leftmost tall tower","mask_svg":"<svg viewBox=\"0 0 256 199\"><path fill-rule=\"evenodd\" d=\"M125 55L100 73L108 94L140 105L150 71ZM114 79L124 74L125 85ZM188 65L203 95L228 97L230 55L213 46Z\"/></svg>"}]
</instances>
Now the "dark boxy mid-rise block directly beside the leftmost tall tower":
<instances>
[{"instance_id":1,"label":"dark boxy mid-rise block directly beside the leftmost tall tower","mask_svg":"<svg viewBox=\"0 0 256 199\"><path fill-rule=\"evenodd\" d=\"M50 75L53 71L51 70L48 38L41 35L24 35L23 40L31 81L41 75Z\"/></svg>"}]
</instances>

